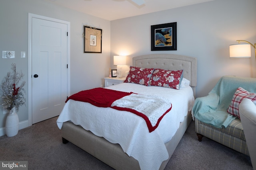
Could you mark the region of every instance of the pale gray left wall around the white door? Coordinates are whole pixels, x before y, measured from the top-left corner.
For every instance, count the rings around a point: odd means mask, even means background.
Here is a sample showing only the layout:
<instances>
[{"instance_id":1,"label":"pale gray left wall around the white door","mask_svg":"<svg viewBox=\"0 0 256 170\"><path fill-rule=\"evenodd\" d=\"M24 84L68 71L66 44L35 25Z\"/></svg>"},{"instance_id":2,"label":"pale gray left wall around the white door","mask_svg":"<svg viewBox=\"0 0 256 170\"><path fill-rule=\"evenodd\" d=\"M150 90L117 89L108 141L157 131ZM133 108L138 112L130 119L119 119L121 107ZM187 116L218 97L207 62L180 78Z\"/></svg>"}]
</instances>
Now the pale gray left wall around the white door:
<instances>
[{"instance_id":1,"label":"pale gray left wall around the white door","mask_svg":"<svg viewBox=\"0 0 256 170\"><path fill-rule=\"evenodd\" d=\"M20 122L28 120L28 13L70 22L70 94L100 87L110 66L110 21L54 6L48 0L0 0L0 52L15 51L16 55L15 59L0 56L0 83L12 63L26 75L26 106L18 112ZM83 25L103 30L101 54L83 53ZM25 59L20 58L21 51L26 51ZM0 133L6 116L0 106Z\"/></svg>"}]
</instances>

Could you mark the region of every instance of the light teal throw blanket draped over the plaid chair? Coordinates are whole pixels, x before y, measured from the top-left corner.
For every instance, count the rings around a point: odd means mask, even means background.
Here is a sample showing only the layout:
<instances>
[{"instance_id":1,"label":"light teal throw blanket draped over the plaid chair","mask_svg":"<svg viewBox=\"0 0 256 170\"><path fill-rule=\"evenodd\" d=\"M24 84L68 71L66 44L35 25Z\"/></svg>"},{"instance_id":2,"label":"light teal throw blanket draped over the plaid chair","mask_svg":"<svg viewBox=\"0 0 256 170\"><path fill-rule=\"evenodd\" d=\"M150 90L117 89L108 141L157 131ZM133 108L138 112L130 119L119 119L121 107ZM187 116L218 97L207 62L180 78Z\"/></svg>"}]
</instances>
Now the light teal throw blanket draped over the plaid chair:
<instances>
[{"instance_id":1,"label":"light teal throw blanket draped over the plaid chair","mask_svg":"<svg viewBox=\"0 0 256 170\"><path fill-rule=\"evenodd\" d=\"M236 119L227 109L238 87L256 93L256 78L223 76L208 96L196 98L192 113L196 119L217 128L228 127Z\"/></svg>"}]
</instances>

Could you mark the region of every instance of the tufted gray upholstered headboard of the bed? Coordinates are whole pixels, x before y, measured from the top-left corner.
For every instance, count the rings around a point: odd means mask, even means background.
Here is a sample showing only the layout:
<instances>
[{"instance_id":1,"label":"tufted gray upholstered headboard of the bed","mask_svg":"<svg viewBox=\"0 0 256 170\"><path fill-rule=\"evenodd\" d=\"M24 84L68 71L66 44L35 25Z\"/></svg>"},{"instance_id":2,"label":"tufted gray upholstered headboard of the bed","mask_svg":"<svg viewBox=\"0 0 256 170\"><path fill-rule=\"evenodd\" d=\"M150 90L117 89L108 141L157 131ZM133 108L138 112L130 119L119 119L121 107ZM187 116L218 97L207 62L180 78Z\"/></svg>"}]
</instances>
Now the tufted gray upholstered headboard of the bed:
<instances>
[{"instance_id":1,"label":"tufted gray upholstered headboard of the bed","mask_svg":"<svg viewBox=\"0 0 256 170\"><path fill-rule=\"evenodd\" d=\"M164 70L184 70L183 77L190 80L196 93L196 58L174 54L152 54L132 58L132 65L141 68L162 68Z\"/></svg>"}]
</instances>

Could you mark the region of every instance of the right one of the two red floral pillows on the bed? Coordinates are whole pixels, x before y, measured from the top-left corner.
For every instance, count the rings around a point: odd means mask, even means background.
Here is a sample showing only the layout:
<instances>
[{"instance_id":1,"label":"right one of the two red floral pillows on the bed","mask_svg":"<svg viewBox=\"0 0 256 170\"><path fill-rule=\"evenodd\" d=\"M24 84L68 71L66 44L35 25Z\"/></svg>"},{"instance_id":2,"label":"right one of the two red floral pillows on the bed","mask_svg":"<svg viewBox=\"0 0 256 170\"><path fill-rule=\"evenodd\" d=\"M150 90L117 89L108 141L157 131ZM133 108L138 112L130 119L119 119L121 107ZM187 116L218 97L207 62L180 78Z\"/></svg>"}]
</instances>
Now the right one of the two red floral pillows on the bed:
<instances>
[{"instance_id":1,"label":"right one of the two red floral pillows on the bed","mask_svg":"<svg viewBox=\"0 0 256 170\"><path fill-rule=\"evenodd\" d=\"M155 69L150 80L149 86L162 86L166 88L180 89L183 77L183 70L163 70Z\"/></svg>"}]
</instances>

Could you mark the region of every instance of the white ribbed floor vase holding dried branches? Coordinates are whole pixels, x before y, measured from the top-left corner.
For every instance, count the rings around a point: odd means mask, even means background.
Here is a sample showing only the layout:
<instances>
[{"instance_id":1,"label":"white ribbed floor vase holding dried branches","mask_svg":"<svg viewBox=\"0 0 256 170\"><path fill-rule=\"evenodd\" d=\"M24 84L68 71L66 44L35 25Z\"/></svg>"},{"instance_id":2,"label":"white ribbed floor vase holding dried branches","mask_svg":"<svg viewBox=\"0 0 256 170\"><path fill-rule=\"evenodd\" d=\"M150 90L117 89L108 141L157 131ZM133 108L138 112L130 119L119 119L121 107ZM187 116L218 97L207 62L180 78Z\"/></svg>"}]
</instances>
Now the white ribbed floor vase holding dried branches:
<instances>
[{"instance_id":1,"label":"white ribbed floor vase holding dried branches","mask_svg":"<svg viewBox=\"0 0 256 170\"><path fill-rule=\"evenodd\" d=\"M5 123L5 130L6 130L6 135L8 137L13 137L18 134L19 131L19 117L16 113L15 107L13 107L7 118L6 118L6 123Z\"/></svg>"}]
</instances>

